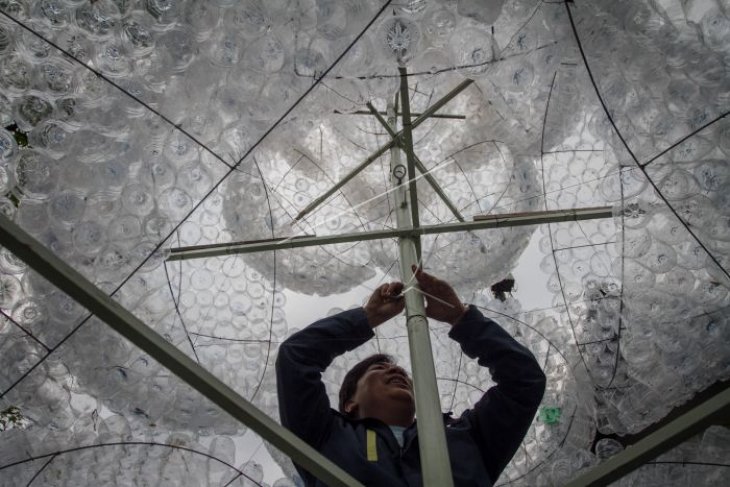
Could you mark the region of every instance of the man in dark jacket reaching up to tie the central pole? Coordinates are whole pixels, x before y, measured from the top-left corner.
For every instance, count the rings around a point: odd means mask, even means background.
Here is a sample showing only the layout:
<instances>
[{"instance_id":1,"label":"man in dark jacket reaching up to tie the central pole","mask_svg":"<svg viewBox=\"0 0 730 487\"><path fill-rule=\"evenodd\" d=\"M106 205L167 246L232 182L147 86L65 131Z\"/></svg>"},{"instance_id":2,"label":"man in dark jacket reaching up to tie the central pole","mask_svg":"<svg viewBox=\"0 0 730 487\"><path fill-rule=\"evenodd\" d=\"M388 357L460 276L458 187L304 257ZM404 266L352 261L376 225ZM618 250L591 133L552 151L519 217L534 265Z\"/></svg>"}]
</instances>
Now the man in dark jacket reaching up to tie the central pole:
<instances>
[{"instance_id":1,"label":"man in dark jacket reaching up to tie the central pole","mask_svg":"<svg viewBox=\"0 0 730 487\"><path fill-rule=\"evenodd\" d=\"M533 355L453 288L414 267L426 315L451 325L449 337L489 367L497 383L458 419L444 415L456 486L491 486L519 447L545 390ZM413 386L386 355L371 356L346 375L339 412L321 381L332 360L374 336L373 328L403 311L402 283L377 288L363 308L319 320L279 348L279 412L284 426L368 486L420 486ZM426 440L427 441L427 440ZM308 486L324 485L298 468Z\"/></svg>"}]
</instances>

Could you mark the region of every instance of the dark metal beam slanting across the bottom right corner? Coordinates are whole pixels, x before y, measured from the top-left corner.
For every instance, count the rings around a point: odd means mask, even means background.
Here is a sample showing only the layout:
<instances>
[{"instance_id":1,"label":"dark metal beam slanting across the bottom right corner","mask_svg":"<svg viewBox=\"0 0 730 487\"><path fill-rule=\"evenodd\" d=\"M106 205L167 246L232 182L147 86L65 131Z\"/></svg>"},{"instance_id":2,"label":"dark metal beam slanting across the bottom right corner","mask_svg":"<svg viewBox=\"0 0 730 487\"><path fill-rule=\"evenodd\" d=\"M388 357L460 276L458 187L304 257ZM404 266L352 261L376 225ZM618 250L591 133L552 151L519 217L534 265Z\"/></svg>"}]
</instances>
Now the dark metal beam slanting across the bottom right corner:
<instances>
[{"instance_id":1,"label":"dark metal beam slanting across the bottom right corner","mask_svg":"<svg viewBox=\"0 0 730 487\"><path fill-rule=\"evenodd\" d=\"M716 421L727 421L729 415L730 389L725 389L641 441L568 482L566 487L609 485Z\"/></svg>"}]
</instances>

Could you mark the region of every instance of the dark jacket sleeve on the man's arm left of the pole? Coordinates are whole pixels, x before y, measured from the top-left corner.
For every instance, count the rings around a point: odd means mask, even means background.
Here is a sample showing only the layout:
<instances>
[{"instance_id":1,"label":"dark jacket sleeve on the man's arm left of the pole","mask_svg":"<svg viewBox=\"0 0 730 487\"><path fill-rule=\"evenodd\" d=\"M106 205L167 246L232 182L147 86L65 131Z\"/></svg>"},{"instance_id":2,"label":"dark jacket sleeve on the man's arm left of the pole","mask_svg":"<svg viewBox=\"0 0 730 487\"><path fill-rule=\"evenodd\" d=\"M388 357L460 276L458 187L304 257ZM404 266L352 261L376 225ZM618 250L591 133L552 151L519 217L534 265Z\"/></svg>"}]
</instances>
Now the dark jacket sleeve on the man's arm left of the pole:
<instances>
[{"instance_id":1,"label":"dark jacket sleeve on the man's arm left of the pole","mask_svg":"<svg viewBox=\"0 0 730 487\"><path fill-rule=\"evenodd\" d=\"M281 424L314 448L321 446L334 420L322 372L373 336L358 308L316 321L284 341L276 359Z\"/></svg>"}]
</instances>

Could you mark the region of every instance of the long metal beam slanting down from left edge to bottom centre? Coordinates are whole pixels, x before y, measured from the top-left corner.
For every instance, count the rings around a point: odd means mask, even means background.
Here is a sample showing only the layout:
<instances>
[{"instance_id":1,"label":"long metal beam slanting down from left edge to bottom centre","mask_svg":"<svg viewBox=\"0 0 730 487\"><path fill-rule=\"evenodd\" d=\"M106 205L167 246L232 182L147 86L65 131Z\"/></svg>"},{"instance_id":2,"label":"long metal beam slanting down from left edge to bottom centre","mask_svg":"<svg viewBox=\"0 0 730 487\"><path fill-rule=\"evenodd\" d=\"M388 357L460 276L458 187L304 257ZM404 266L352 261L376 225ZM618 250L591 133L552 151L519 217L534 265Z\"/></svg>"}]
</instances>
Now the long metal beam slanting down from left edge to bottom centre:
<instances>
[{"instance_id":1,"label":"long metal beam slanting down from left edge to bottom centre","mask_svg":"<svg viewBox=\"0 0 730 487\"><path fill-rule=\"evenodd\" d=\"M362 485L191 360L2 214L0 214L0 243L22 259L28 267L63 290L170 372L289 455L292 461L327 485L343 487Z\"/></svg>"}]
</instances>

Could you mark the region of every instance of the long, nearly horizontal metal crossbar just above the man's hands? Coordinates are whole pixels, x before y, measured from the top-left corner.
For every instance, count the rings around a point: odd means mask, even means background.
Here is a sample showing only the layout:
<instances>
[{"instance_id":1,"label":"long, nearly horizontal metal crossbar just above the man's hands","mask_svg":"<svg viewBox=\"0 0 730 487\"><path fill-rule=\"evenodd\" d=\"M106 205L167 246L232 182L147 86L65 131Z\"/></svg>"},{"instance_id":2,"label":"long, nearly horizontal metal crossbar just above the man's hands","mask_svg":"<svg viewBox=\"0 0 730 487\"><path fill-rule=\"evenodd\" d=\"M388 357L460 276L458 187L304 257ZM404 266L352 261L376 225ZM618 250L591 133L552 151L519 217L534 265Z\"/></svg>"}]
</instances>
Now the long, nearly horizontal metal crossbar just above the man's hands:
<instances>
[{"instance_id":1,"label":"long, nearly horizontal metal crossbar just above the man's hands","mask_svg":"<svg viewBox=\"0 0 730 487\"><path fill-rule=\"evenodd\" d=\"M205 257L220 257L251 252L311 247L316 245L333 245L366 240L380 240L384 238L413 237L418 235L465 232L469 230L485 230L488 228L507 228L525 225L540 225L545 223L595 220L598 218L611 218L612 216L613 214L610 206L578 208L572 210L484 215L475 217L475 220L477 218L478 220L473 222L442 223L439 225L425 225L418 228L375 230L371 232L355 232L341 235L324 235L319 237L315 235L308 235L273 238L269 240L177 247L170 250L170 255L167 260L201 259Z\"/></svg>"}]
</instances>

